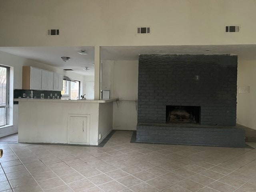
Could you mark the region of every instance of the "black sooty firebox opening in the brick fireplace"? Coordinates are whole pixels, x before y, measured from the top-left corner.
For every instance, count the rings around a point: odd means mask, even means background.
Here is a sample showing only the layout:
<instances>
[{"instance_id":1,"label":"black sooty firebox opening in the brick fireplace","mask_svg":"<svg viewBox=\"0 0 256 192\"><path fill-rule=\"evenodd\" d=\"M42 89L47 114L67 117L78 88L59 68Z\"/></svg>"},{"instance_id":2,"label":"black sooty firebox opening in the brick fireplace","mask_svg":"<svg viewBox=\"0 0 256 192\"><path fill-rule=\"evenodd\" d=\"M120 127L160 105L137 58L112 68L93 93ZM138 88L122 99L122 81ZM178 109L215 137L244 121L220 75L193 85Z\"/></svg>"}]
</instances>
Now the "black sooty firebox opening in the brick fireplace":
<instances>
[{"instance_id":1,"label":"black sooty firebox opening in the brick fireplace","mask_svg":"<svg viewBox=\"0 0 256 192\"><path fill-rule=\"evenodd\" d=\"M166 106L166 123L200 124L200 106Z\"/></svg>"}]
</instances>

